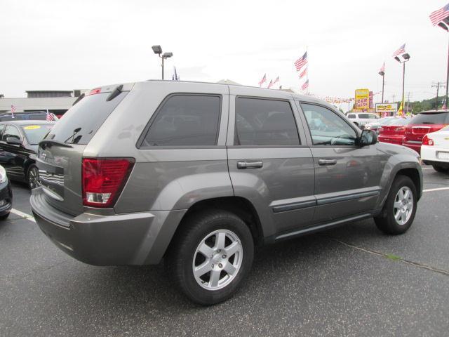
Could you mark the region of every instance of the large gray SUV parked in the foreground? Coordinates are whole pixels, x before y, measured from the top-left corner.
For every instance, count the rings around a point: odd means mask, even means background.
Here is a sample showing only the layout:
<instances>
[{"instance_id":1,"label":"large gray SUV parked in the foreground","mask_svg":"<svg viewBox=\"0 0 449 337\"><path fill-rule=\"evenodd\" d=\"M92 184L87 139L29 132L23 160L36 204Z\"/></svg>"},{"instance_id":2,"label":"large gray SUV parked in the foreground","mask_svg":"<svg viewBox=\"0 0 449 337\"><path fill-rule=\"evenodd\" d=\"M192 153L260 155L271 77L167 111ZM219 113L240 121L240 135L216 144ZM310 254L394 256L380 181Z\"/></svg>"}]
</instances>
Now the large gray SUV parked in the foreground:
<instances>
[{"instance_id":1,"label":"large gray SUV parked in the foreground","mask_svg":"<svg viewBox=\"0 0 449 337\"><path fill-rule=\"evenodd\" d=\"M260 244L366 218L406 232L419 161L316 98L145 81L96 88L55 124L31 205L70 256L164 259L185 295L210 305L235 293Z\"/></svg>"}]
</instances>

